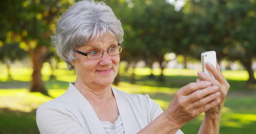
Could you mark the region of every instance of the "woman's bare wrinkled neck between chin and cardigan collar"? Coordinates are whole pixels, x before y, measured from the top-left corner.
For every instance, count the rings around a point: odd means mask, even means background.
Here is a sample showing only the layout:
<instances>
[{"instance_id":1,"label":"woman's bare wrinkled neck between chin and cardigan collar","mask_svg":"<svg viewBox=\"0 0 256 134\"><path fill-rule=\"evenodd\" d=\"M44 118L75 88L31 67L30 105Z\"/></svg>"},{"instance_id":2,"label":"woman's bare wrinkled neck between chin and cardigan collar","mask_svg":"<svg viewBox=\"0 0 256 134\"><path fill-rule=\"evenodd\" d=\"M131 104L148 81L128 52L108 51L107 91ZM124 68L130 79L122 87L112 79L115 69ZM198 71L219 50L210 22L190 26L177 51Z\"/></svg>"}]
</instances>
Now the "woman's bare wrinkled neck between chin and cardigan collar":
<instances>
[{"instance_id":1,"label":"woman's bare wrinkled neck between chin and cardigan collar","mask_svg":"<svg viewBox=\"0 0 256 134\"><path fill-rule=\"evenodd\" d=\"M113 97L111 86L86 84L76 80L74 85L82 95L88 100L96 103L102 103Z\"/></svg>"}]
</instances>

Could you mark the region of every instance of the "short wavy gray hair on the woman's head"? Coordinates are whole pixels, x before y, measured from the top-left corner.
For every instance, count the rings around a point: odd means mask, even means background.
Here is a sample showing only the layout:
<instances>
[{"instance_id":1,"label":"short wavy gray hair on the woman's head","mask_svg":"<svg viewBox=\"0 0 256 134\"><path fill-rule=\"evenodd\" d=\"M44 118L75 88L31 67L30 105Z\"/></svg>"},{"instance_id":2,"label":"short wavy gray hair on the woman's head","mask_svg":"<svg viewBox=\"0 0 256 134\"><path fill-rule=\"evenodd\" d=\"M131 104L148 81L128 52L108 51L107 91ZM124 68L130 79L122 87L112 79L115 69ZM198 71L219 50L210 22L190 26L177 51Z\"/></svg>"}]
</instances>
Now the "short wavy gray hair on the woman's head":
<instances>
[{"instance_id":1,"label":"short wavy gray hair on the woman's head","mask_svg":"<svg viewBox=\"0 0 256 134\"><path fill-rule=\"evenodd\" d=\"M118 43L123 41L121 22L110 7L104 2L82 0L71 6L58 20L52 44L67 68L72 70L74 66L70 62L76 59L75 48L107 32L115 36Z\"/></svg>"}]
</instances>

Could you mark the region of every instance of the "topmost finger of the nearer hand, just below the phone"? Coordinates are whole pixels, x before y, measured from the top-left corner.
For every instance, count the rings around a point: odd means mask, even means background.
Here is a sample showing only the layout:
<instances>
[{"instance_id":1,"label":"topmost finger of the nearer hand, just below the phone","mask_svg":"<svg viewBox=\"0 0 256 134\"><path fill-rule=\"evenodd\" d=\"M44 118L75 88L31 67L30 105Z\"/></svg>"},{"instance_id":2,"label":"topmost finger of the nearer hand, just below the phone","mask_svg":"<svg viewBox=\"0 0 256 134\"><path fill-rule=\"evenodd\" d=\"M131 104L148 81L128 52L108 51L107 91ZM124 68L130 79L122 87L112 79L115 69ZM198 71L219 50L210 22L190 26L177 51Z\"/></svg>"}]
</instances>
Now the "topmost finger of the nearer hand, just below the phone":
<instances>
[{"instance_id":1,"label":"topmost finger of the nearer hand, just below the phone","mask_svg":"<svg viewBox=\"0 0 256 134\"><path fill-rule=\"evenodd\" d=\"M177 92L178 93L180 92L181 95L189 95L190 93L195 92L197 89L204 89L211 85L212 85L212 83L209 81L194 82L194 83L190 83L190 84L182 87L180 89L180 91L177 91Z\"/></svg>"}]
</instances>

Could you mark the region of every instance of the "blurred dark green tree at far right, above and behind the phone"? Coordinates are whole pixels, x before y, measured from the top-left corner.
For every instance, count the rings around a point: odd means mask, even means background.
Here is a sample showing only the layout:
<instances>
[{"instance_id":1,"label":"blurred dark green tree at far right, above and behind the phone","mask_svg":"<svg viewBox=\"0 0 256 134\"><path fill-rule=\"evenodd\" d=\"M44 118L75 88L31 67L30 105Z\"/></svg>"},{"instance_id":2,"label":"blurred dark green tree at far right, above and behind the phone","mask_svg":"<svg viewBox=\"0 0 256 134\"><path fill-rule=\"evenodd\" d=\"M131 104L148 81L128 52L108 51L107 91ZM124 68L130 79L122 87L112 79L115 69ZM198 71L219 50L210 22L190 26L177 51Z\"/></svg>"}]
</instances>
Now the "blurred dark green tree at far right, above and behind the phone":
<instances>
[{"instance_id":1,"label":"blurred dark green tree at far right, above and behind the phone","mask_svg":"<svg viewBox=\"0 0 256 134\"><path fill-rule=\"evenodd\" d=\"M200 51L215 50L218 61L224 57L239 60L248 71L248 84L255 84L252 70L256 53L255 8L254 0L188 0L183 12L191 30L196 31L190 42L192 55L200 59ZM193 35L191 30L188 36Z\"/></svg>"}]
</instances>

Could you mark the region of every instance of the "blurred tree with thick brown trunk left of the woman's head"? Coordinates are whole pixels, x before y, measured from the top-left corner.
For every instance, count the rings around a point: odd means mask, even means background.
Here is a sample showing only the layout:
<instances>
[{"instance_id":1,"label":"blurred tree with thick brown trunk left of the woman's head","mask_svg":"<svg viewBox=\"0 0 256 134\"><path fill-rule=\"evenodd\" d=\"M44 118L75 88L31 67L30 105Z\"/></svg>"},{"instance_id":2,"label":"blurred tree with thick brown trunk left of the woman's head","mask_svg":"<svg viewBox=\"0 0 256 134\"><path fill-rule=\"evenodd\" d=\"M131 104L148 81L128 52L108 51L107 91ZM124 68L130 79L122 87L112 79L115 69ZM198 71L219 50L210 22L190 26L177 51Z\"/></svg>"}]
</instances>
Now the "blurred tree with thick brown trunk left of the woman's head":
<instances>
[{"instance_id":1,"label":"blurred tree with thick brown trunk left of the woman's head","mask_svg":"<svg viewBox=\"0 0 256 134\"><path fill-rule=\"evenodd\" d=\"M75 0L6 0L1 3L0 24L3 29L0 33L9 34L2 42L6 42L6 45L19 42L19 47L29 53L33 63L30 92L47 93L41 78L41 68L49 53L50 35L55 32L58 14L63 13L74 2ZM17 54L19 56L20 53Z\"/></svg>"}]
</instances>

